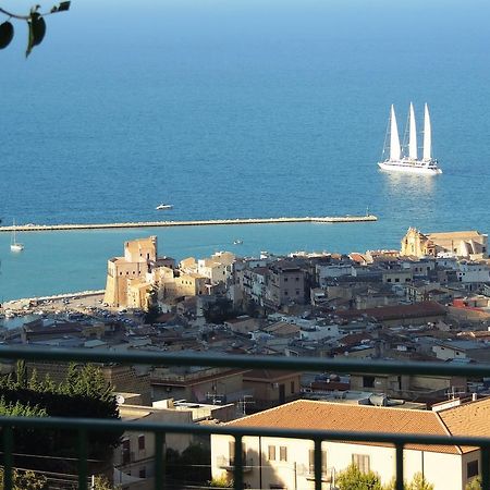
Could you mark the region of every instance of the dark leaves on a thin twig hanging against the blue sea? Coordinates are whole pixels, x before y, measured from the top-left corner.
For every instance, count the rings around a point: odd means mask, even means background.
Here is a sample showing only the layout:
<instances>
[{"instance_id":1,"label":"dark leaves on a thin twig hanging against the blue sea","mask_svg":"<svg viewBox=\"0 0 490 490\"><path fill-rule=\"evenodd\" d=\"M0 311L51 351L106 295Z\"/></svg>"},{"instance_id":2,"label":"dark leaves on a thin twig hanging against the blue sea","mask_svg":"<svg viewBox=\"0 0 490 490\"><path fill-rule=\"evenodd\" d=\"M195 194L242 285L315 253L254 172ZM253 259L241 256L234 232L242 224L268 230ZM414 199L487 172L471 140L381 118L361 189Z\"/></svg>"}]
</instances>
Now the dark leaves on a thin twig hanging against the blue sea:
<instances>
[{"instance_id":1,"label":"dark leaves on a thin twig hanging against the blue sea","mask_svg":"<svg viewBox=\"0 0 490 490\"><path fill-rule=\"evenodd\" d=\"M14 37L14 26L10 22L11 19L27 22L28 39L25 56L28 57L35 46L42 42L46 34L45 16L57 12L65 12L70 9L70 1L62 1L53 5L49 12L39 12L40 5L34 5L28 14L22 15L9 12L0 7L0 13L8 16L8 20L0 24L0 49L7 48Z\"/></svg>"}]
</instances>

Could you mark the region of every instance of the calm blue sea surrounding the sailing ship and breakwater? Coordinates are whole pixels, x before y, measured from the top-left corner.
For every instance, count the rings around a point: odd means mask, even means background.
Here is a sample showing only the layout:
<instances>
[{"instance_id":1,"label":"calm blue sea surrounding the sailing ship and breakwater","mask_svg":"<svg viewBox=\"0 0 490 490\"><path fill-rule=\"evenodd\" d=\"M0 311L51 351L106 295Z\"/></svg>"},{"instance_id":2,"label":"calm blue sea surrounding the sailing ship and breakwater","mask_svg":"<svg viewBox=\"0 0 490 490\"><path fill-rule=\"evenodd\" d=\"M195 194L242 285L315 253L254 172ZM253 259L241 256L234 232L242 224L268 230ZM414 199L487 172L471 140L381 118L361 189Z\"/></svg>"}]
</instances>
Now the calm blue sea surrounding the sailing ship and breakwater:
<instances>
[{"instance_id":1,"label":"calm blue sea surrounding the sailing ship and breakwater","mask_svg":"<svg viewBox=\"0 0 490 490\"><path fill-rule=\"evenodd\" d=\"M3 224L378 221L25 232L19 254L2 233L0 302L103 289L107 260L150 234L180 260L392 249L408 226L488 233L489 14L483 0L73 0L28 59L15 22L0 51ZM403 137L411 101L419 128L429 103L442 175L377 168L390 105Z\"/></svg>"}]
</instances>

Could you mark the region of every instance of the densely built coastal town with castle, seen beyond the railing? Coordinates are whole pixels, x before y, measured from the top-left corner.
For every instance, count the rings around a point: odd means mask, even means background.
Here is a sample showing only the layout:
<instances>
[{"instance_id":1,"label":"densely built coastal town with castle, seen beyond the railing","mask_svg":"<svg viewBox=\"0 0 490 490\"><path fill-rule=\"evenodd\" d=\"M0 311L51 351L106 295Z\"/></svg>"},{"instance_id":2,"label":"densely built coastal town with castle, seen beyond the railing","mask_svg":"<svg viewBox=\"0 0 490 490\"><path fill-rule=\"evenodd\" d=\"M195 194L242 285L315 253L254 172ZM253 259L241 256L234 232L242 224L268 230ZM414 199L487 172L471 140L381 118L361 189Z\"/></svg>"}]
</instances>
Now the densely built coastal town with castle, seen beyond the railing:
<instances>
[{"instance_id":1,"label":"densely built coastal town with castle, seen beyond the railing","mask_svg":"<svg viewBox=\"0 0 490 490\"><path fill-rule=\"evenodd\" d=\"M397 250L287 256L264 252L259 257L219 252L179 264L160 255L156 236L125 242L122 248L122 256L108 258L103 292L3 304L2 316L21 324L1 331L2 344L90 352L490 362L488 235L478 231L424 233L409 228ZM68 369L58 363L26 364L29 372L54 381ZM391 427L407 433L490 436L490 379L485 378L100 367L118 394L123 420L275 427L280 419L280 427L295 429ZM15 368L13 360L2 362L3 375ZM136 432L123 436L113 461L119 488L154 488L155 441L147 439ZM212 480L233 476L231 441L217 434L205 443L205 466ZM167 448L183 452L197 442L192 436L169 436ZM336 488L335 474L351 463L376 471L383 481L392 477L392 468L381 464L392 450L382 444L323 444L329 455L322 467L324 488ZM405 474L422 471L436 489L465 489L480 474L476 449L408 446L406 452ZM254 458L260 462L254 465ZM438 471L440 464L451 471ZM244 465L249 488L313 488L314 452L307 441L304 446L278 438L247 442Z\"/></svg>"}]
</instances>

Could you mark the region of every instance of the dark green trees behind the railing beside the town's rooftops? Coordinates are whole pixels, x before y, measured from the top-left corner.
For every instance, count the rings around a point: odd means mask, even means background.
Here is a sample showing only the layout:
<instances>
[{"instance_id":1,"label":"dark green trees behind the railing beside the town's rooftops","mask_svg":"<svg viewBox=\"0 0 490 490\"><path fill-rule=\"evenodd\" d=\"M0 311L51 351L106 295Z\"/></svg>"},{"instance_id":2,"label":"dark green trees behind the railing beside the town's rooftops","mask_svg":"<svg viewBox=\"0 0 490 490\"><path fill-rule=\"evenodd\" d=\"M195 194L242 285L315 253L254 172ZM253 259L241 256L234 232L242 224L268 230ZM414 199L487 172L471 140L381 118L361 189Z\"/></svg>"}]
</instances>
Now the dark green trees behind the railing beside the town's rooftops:
<instances>
[{"instance_id":1,"label":"dark green trees behind the railing beside the town's rooftops","mask_svg":"<svg viewBox=\"0 0 490 490\"><path fill-rule=\"evenodd\" d=\"M94 365L70 365L65 380L54 383L49 376L39 379L34 369L27 378L25 365L17 364L16 376L0 378L0 414L16 416L54 416L119 419L112 388ZM15 465L30 469L61 473L73 470L70 458L76 457L77 431L56 429L14 428ZM121 432L94 431L87 436L89 458L103 465L113 448L120 443ZM39 460L36 455L50 455ZM95 468L94 473L101 473ZM0 487L1 488L1 487Z\"/></svg>"}]
</instances>

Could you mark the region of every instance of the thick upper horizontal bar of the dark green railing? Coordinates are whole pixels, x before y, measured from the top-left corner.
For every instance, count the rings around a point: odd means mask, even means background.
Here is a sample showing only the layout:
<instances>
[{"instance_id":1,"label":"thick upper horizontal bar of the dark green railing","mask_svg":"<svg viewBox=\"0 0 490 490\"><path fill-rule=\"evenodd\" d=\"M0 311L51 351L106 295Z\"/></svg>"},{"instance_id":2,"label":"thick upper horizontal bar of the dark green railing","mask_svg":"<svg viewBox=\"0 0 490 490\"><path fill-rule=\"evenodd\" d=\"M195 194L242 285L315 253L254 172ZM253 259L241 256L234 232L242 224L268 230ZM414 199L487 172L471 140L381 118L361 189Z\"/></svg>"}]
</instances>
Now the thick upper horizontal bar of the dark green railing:
<instances>
[{"instance_id":1,"label":"thick upper horizontal bar of the dark green railing","mask_svg":"<svg viewBox=\"0 0 490 490\"><path fill-rule=\"evenodd\" d=\"M52 348L0 346L0 359L119 363L154 366L208 366L304 371L366 372L379 375L424 376L490 376L490 364L456 365L443 362L354 360L326 357L275 357L253 355L210 355L200 353L114 352L83 348Z\"/></svg>"}]
</instances>

